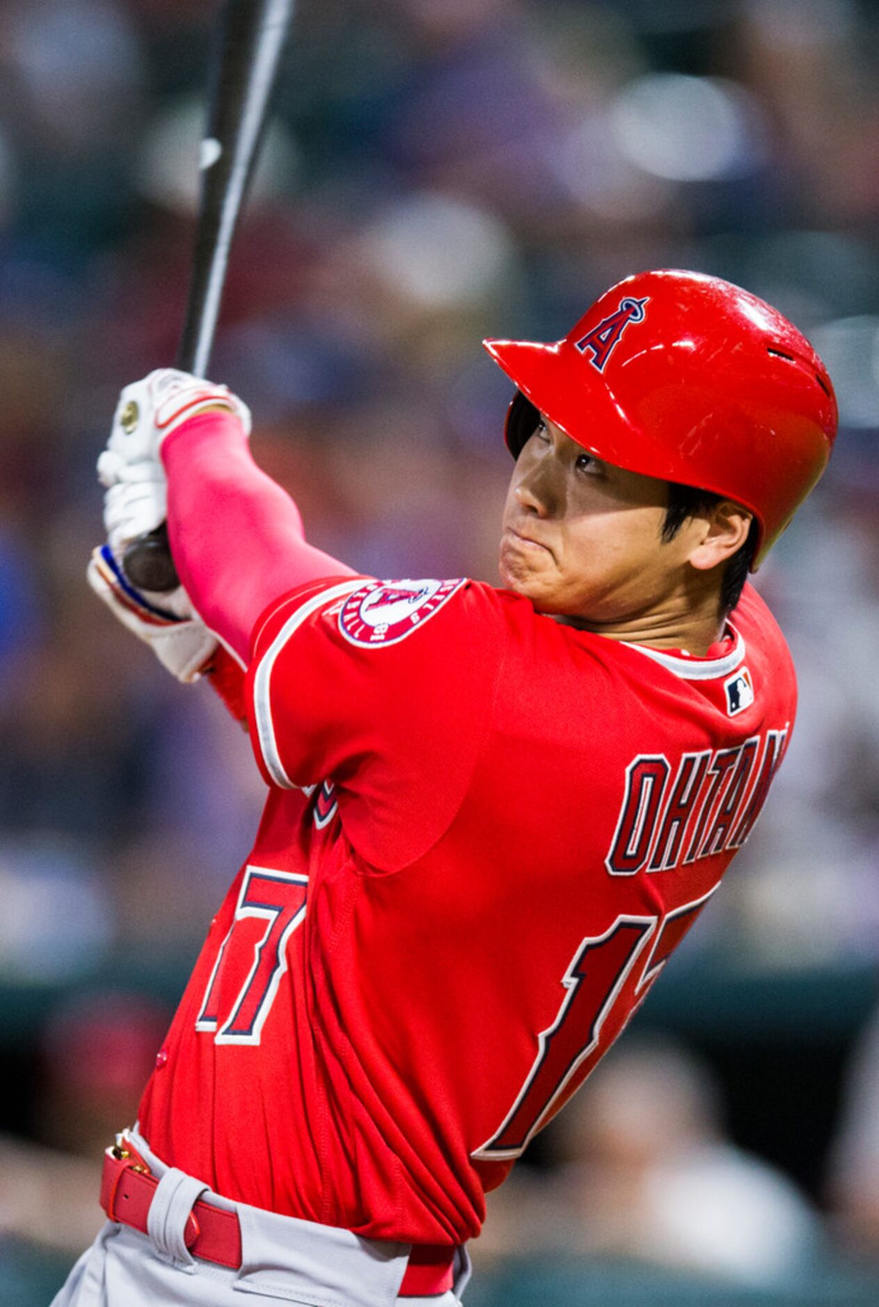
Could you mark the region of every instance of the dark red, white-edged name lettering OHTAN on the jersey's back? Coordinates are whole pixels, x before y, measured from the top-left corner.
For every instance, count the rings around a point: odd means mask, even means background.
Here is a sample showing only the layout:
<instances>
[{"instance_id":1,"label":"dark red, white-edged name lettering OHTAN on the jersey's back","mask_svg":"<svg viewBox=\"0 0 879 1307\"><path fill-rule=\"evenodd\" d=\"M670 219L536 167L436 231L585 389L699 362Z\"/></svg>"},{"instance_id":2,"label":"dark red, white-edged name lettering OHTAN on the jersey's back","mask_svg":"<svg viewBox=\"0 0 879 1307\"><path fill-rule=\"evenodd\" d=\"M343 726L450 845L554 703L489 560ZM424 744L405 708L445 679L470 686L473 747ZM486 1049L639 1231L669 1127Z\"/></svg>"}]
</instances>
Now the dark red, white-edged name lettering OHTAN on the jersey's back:
<instances>
[{"instance_id":1,"label":"dark red, white-edged name lettering OHTAN on the jersey's back","mask_svg":"<svg viewBox=\"0 0 879 1307\"><path fill-rule=\"evenodd\" d=\"M741 848L754 829L785 752L789 727L731 749L684 753L671 779L665 754L639 754L605 859L611 876L667 872Z\"/></svg>"}]
</instances>

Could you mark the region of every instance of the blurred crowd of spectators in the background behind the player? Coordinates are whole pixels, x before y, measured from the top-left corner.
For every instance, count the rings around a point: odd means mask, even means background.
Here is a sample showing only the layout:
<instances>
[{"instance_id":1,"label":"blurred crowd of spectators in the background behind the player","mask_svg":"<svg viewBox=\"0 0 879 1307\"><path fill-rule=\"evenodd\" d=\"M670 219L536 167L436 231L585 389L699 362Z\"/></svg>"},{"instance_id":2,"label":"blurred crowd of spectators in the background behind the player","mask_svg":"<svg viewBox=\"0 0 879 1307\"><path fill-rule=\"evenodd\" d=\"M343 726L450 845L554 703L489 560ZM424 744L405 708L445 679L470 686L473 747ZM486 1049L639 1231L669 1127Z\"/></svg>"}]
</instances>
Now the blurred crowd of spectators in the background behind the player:
<instances>
[{"instance_id":1,"label":"blurred crowd of spectators in the background behind the player","mask_svg":"<svg viewBox=\"0 0 879 1307\"><path fill-rule=\"evenodd\" d=\"M0 1034L0 1231L71 1251L76 1204L47 1195L88 1188L131 1119L172 999L149 978L185 975L263 797L209 691L170 682L84 582L118 389L175 354L216 16L0 9L0 985L13 1009L51 995L5 1056ZM799 719L682 950L695 976L879 959L878 52L866 0L302 0L232 255L212 375L252 406L310 538L380 576L496 579L509 387L483 336L556 339L615 280L683 267L823 354L839 448L758 578ZM562 1240L756 1282L825 1242L879 1256L875 1035L808 1199L724 1137L686 1047L618 1057L499 1196L487 1261ZM40 1188L59 1148L91 1162Z\"/></svg>"}]
</instances>

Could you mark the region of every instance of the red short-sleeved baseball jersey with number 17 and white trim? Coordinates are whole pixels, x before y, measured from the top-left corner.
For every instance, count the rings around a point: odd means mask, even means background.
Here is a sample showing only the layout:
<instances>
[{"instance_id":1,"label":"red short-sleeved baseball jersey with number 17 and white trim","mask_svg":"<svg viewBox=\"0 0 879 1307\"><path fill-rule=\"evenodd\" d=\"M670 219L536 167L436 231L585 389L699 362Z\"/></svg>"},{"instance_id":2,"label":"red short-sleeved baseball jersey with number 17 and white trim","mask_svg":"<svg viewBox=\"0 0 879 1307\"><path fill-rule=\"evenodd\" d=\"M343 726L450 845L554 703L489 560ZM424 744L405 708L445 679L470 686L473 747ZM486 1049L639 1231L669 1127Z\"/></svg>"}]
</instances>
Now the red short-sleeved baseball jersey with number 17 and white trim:
<instances>
[{"instance_id":1,"label":"red short-sleeved baseball jersey with number 17 and white trim","mask_svg":"<svg viewBox=\"0 0 879 1307\"><path fill-rule=\"evenodd\" d=\"M324 580L257 627L270 786L146 1089L165 1161L457 1243L712 897L784 757L751 589L696 659L469 580Z\"/></svg>"}]
</instances>

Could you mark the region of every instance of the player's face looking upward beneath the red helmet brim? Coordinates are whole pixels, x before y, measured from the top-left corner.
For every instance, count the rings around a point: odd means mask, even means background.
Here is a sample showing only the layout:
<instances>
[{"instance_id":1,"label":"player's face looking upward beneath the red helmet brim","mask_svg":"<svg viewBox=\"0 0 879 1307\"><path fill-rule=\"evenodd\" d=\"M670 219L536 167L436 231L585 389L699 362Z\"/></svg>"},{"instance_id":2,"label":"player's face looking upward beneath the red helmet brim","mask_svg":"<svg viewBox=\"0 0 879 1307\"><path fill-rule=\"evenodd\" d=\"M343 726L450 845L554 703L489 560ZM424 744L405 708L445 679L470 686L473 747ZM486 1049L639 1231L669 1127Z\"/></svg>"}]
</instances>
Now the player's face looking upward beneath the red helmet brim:
<instances>
[{"instance_id":1,"label":"player's face looking upward beneath the red helmet brim","mask_svg":"<svg viewBox=\"0 0 879 1307\"><path fill-rule=\"evenodd\" d=\"M502 583L596 629L649 625L686 604L694 531L663 542L666 505L667 482L594 459L543 418L507 494Z\"/></svg>"}]
</instances>

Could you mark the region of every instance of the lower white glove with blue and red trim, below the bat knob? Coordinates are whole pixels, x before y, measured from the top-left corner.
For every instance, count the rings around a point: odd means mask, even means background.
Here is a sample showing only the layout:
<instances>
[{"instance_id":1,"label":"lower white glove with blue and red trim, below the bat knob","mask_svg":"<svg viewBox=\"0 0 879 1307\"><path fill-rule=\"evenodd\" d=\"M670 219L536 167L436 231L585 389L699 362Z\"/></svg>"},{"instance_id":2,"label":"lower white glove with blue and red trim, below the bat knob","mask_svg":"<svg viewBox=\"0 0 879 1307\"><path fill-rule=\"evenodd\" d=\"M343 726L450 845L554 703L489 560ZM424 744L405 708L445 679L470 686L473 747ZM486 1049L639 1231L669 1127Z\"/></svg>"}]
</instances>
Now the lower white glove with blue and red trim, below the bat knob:
<instances>
[{"instance_id":1,"label":"lower white glove with blue and red trim, below the bat knob","mask_svg":"<svg viewBox=\"0 0 879 1307\"><path fill-rule=\"evenodd\" d=\"M178 681L197 681L217 651L217 639L193 610L183 586L168 595L137 591L110 545L95 549L89 584L114 617L155 654Z\"/></svg>"}]
</instances>

